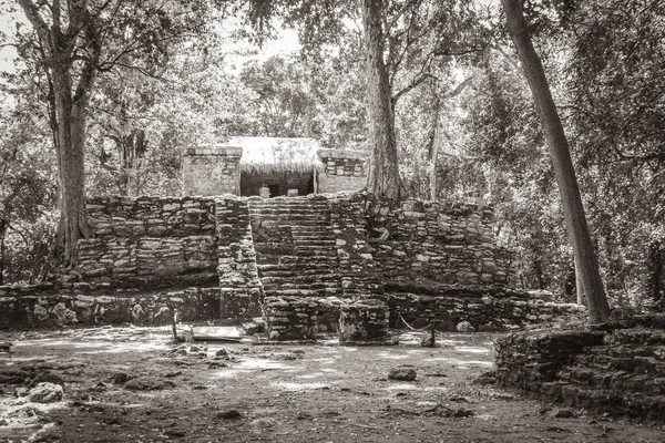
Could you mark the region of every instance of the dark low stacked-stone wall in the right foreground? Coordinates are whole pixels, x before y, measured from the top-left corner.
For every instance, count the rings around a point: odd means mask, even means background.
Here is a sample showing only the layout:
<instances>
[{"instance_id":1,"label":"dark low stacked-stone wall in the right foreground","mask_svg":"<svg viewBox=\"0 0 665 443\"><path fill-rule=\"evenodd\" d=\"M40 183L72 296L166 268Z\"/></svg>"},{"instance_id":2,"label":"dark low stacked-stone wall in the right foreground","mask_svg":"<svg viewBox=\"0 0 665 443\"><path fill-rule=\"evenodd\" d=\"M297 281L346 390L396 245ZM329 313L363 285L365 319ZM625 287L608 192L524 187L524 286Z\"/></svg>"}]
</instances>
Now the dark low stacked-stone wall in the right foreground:
<instances>
[{"instance_id":1,"label":"dark low stacked-stone wall in the right foreground","mask_svg":"<svg viewBox=\"0 0 665 443\"><path fill-rule=\"evenodd\" d=\"M497 380L534 398L664 423L665 331L646 327L663 326L665 316L637 320L612 332L539 330L500 338Z\"/></svg>"}]
</instances>

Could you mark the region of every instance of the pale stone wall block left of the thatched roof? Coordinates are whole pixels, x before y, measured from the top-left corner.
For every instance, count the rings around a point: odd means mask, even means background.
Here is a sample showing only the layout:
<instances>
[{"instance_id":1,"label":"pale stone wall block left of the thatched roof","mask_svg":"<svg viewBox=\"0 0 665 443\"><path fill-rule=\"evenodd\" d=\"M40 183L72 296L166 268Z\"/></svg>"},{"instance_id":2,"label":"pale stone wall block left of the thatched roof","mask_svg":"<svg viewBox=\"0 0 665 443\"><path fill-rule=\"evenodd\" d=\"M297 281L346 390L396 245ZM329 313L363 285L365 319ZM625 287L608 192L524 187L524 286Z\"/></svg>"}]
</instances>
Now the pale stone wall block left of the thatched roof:
<instances>
[{"instance_id":1,"label":"pale stone wall block left of the thatched roof","mask_svg":"<svg viewBox=\"0 0 665 443\"><path fill-rule=\"evenodd\" d=\"M239 195L242 147L190 147L183 155L183 195Z\"/></svg>"}]
</instances>

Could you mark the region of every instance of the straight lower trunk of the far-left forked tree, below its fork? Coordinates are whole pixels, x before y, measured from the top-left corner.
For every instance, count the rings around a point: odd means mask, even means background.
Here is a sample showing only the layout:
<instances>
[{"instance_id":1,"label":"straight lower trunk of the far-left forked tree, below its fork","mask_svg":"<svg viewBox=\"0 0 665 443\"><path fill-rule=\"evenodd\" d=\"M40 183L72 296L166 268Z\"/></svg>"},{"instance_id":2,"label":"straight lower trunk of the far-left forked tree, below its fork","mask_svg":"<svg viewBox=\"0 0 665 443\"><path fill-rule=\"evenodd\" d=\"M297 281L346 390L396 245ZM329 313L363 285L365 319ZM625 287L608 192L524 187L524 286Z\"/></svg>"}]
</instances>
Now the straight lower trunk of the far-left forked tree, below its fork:
<instances>
[{"instance_id":1,"label":"straight lower trunk of the far-left forked tree, below its fork","mask_svg":"<svg viewBox=\"0 0 665 443\"><path fill-rule=\"evenodd\" d=\"M58 119L57 155L60 182L60 226L65 265L76 261L76 241L89 237L85 219L85 177L83 152L85 146L85 114L81 104L72 100L69 66L52 70L55 116Z\"/></svg>"}]
</instances>

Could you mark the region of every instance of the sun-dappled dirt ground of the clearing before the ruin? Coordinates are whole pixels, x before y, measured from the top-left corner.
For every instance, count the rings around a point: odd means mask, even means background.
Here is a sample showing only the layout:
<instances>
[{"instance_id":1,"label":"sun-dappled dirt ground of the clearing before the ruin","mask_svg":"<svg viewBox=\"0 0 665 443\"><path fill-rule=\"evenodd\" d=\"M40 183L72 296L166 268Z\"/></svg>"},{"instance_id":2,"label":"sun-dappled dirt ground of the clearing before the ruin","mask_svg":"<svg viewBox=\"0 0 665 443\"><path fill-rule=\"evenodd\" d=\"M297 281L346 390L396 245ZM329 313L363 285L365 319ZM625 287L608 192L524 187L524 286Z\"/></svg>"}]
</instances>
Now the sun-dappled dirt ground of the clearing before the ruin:
<instances>
[{"instance_id":1,"label":"sun-dappled dirt ground of the clearing before the ruin","mask_svg":"<svg viewBox=\"0 0 665 443\"><path fill-rule=\"evenodd\" d=\"M6 333L14 353L0 354L0 442L665 441L663 426L472 383L492 368L495 337L440 334L436 349L415 333L392 347L245 339L183 354L170 352L168 328ZM395 368L416 380L389 379ZM16 396L38 380L64 382L62 401Z\"/></svg>"}]
</instances>

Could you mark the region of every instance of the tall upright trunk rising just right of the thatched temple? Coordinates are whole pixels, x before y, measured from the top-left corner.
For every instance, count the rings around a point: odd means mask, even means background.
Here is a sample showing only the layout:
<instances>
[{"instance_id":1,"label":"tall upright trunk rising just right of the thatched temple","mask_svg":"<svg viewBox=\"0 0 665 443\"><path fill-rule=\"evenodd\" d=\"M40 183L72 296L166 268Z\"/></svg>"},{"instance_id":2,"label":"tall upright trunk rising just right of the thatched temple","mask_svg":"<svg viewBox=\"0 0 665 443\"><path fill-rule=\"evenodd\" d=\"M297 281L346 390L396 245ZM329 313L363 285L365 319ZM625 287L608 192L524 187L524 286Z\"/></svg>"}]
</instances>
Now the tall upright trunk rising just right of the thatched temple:
<instances>
[{"instance_id":1,"label":"tall upright trunk rising just right of the thatched temple","mask_svg":"<svg viewBox=\"0 0 665 443\"><path fill-rule=\"evenodd\" d=\"M367 62L367 115L372 158L367 187L375 195L399 200L401 179L397 166L392 92L383 60L382 0L362 0Z\"/></svg>"}]
</instances>

